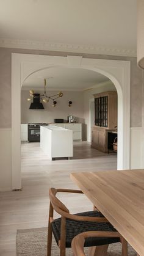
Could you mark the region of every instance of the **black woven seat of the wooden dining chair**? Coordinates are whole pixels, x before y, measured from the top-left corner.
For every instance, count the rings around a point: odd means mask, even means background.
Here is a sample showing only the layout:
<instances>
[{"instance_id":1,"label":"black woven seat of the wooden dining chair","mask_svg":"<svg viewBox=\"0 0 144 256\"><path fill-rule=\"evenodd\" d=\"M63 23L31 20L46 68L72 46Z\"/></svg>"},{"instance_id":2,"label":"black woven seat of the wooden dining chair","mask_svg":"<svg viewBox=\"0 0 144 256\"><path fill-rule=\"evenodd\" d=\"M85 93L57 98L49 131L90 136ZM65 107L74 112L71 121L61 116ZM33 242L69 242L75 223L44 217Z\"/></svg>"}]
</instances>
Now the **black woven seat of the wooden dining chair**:
<instances>
[{"instance_id":1,"label":"black woven seat of the wooden dining chair","mask_svg":"<svg viewBox=\"0 0 144 256\"><path fill-rule=\"evenodd\" d=\"M75 215L75 214L74 214ZM85 213L77 213L79 216L89 216L89 217L103 217L98 211L87 211ZM61 218L55 219L51 223L52 232L54 238L56 239L57 245L59 245L60 240L60 227ZM74 221L73 219L66 219L66 247L71 247L71 241L74 236L82 232L87 231L109 231L117 232L109 222L87 222L87 221ZM117 243L120 238L86 238L84 246L101 246L103 244Z\"/></svg>"}]
</instances>

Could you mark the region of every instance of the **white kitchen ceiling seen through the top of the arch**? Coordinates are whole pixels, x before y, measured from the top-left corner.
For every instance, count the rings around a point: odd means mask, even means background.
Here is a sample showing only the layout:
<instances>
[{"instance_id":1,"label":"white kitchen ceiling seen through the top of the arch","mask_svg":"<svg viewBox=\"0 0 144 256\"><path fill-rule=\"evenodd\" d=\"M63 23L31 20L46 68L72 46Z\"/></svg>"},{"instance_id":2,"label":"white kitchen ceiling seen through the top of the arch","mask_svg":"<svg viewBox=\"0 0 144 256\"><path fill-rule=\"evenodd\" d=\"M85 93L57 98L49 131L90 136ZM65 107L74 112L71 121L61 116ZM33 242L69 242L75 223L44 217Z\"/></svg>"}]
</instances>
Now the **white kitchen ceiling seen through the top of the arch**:
<instances>
[{"instance_id":1,"label":"white kitchen ceiling seen through the top of the arch","mask_svg":"<svg viewBox=\"0 0 144 256\"><path fill-rule=\"evenodd\" d=\"M29 76L22 90L43 90L44 78L46 78L46 88L50 90L85 90L101 82L109 81L106 76L91 70L52 67Z\"/></svg>"}]
</instances>

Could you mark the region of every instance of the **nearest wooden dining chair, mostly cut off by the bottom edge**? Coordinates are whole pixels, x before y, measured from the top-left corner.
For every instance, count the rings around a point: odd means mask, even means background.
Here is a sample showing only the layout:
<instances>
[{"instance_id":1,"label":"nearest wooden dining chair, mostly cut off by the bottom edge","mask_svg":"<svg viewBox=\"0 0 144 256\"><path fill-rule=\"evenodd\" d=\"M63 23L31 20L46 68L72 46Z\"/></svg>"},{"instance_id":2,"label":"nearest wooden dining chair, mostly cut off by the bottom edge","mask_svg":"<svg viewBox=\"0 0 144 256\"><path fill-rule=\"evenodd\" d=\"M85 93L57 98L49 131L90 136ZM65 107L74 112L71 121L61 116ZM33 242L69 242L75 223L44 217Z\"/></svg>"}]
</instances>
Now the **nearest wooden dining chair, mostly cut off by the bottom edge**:
<instances>
[{"instance_id":1,"label":"nearest wooden dining chair, mostly cut off by the bottom edge","mask_svg":"<svg viewBox=\"0 0 144 256\"><path fill-rule=\"evenodd\" d=\"M74 256L85 256L84 253L84 244L85 241L88 238L94 238L94 239L98 239L98 238L120 238L120 241L122 243L122 256L127 256L128 255L128 243L126 242L126 240L123 239L123 237L120 235L120 233L118 232L103 232L103 231L89 231L89 232L83 232L80 233L79 235L75 236L72 240L71 243L71 248L73 250L73 255ZM101 251L97 251L98 255L102 255L103 252ZM96 254L96 255L97 255Z\"/></svg>"}]
</instances>

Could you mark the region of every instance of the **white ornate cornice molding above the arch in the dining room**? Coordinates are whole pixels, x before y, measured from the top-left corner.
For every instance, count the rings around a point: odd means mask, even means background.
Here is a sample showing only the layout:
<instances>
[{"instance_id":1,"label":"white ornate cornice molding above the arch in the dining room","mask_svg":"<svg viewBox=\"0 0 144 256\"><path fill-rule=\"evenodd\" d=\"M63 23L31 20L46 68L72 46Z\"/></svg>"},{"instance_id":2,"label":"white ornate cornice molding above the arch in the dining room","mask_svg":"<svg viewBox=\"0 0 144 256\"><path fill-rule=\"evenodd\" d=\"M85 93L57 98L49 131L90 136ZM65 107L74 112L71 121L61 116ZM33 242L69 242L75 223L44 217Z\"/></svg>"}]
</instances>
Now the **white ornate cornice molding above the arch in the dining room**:
<instances>
[{"instance_id":1,"label":"white ornate cornice molding above the arch in the dining room","mask_svg":"<svg viewBox=\"0 0 144 256\"><path fill-rule=\"evenodd\" d=\"M106 46L96 45L74 45L68 43L48 43L32 40L14 40L0 38L0 47L19 48L19 49L37 49L46 51L65 51L71 53L89 53L89 54L106 54L114 56L136 57L136 49L109 48Z\"/></svg>"}]
</instances>

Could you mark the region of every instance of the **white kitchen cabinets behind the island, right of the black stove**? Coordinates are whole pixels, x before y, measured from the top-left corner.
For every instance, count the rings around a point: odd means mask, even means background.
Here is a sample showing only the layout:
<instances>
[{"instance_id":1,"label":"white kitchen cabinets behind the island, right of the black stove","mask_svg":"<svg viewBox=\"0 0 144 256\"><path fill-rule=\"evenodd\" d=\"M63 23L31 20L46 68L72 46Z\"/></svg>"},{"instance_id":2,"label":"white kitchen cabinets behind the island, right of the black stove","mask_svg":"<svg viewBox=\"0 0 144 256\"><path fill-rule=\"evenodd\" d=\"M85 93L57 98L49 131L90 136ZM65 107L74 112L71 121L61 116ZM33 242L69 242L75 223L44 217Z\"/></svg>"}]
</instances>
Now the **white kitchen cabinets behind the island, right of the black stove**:
<instances>
[{"instance_id":1,"label":"white kitchen cabinets behind the island, right of the black stove","mask_svg":"<svg viewBox=\"0 0 144 256\"><path fill-rule=\"evenodd\" d=\"M53 125L63 127L73 131L73 140L82 141L82 124L81 123L53 123Z\"/></svg>"}]
</instances>

